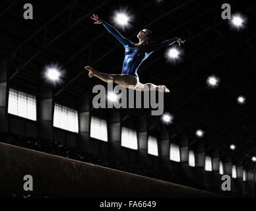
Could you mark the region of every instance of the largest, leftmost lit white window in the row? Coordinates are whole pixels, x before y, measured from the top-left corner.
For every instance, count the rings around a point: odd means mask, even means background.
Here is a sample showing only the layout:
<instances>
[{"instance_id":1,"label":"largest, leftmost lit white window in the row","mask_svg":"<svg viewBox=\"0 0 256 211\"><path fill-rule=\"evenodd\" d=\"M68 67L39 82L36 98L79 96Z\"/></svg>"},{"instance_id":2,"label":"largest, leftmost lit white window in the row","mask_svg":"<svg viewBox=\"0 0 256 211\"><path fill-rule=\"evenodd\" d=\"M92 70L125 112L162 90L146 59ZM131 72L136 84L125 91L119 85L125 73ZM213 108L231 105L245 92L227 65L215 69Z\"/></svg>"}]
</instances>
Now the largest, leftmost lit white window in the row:
<instances>
[{"instance_id":1,"label":"largest, leftmost lit white window in the row","mask_svg":"<svg viewBox=\"0 0 256 211\"><path fill-rule=\"evenodd\" d=\"M36 121L36 96L10 88L8 113Z\"/></svg>"}]
</instances>

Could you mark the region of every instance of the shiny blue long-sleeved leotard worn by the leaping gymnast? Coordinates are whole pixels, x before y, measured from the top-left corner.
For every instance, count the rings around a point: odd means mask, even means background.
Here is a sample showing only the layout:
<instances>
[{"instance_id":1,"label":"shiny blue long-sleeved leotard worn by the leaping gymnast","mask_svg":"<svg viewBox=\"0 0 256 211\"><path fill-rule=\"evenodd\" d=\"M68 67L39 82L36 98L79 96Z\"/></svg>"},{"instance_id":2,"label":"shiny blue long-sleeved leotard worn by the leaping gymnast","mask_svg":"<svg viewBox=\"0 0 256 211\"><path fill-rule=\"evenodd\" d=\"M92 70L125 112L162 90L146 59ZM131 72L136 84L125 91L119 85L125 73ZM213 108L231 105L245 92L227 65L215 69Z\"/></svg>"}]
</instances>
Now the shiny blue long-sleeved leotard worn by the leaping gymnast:
<instances>
[{"instance_id":1,"label":"shiny blue long-sleeved leotard worn by the leaping gymnast","mask_svg":"<svg viewBox=\"0 0 256 211\"><path fill-rule=\"evenodd\" d=\"M143 61L154 51L172 45L177 41L177 38L165 40L158 44L150 44L144 49L140 49L139 46L134 46L134 43L127 38L124 38L113 26L110 26L107 22L103 22L103 25L107 30L117 38L117 40L125 47L125 59L123 60L122 74L133 75L138 77L137 70Z\"/></svg>"}]
</instances>

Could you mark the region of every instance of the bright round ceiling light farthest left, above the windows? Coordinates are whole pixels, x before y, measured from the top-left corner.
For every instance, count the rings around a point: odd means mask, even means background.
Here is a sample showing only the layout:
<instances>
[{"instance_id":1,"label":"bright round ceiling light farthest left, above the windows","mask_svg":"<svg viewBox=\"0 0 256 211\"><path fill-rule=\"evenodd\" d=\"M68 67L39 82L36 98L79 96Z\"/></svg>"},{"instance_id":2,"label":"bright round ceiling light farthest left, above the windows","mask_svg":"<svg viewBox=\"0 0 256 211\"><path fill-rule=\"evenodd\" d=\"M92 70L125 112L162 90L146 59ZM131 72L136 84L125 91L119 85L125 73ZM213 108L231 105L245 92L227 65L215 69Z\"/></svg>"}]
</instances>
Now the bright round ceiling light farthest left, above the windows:
<instances>
[{"instance_id":1,"label":"bright round ceiling light farthest left, above the windows","mask_svg":"<svg viewBox=\"0 0 256 211\"><path fill-rule=\"evenodd\" d=\"M59 84L65 71L57 64L50 64L44 67L44 78L51 84Z\"/></svg>"}]
</instances>

